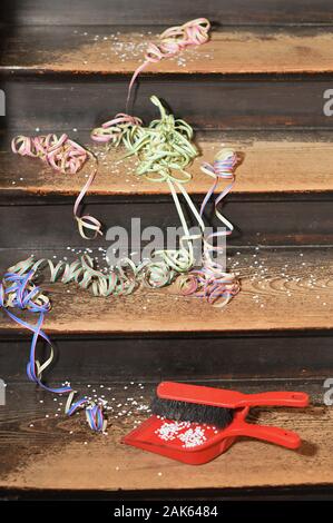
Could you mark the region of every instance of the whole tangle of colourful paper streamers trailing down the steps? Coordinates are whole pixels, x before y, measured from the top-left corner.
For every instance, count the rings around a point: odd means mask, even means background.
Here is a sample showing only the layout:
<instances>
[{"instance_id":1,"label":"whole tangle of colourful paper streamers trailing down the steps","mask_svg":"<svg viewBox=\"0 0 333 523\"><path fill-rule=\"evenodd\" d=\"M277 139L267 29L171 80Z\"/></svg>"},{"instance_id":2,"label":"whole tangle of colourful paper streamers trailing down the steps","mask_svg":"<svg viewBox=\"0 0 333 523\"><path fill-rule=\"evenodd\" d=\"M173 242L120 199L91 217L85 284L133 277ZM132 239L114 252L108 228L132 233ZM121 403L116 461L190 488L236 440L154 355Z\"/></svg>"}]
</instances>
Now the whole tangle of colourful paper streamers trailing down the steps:
<instances>
[{"instance_id":1,"label":"whole tangle of colourful paper streamers trailing down the steps","mask_svg":"<svg viewBox=\"0 0 333 523\"><path fill-rule=\"evenodd\" d=\"M130 80L127 107L133 86L138 75L149 62L158 62L163 58L175 56L187 46L206 42L208 40L209 28L208 20L204 18L193 20L184 26L167 29L160 36L160 45L150 43L147 48L144 63L134 72ZM138 157L138 175L145 176L150 181L165 181L168 184L184 230L184 235L180 238L180 248L156 251L150 260L146 260L138 266L126 258L120 267L116 267L107 275L96 270L91 258L88 256L84 256L71 264L59 262L57 265L50 259L45 258L36 262L31 257L11 267L0 284L0 306L19 325L33 333L30 359L27 365L29 379L49 392L68 393L66 413L72 415L79 409L85 409L87 422L94 431L106 430L106 402L102 399L94 402L87 397L75 401L77 393L69 385L50 388L42 382L42 373L53 359L53 347L49 337L41 330L45 314L50 309L50 302L32 282L38 269L48 267L51 282L61 280L65 284L74 282L81 288L91 289L95 296L130 294L140 283L150 288L161 287L169 285L179 275L182 276L178 279L178 284L183 294L200 295L209 303L214 303L223 296L225 299L218 306L225 305L239 289L239 284L235 276L227 274L225 268L212 258L213 251L217 250L214 247L214 239L218 235L228 235L233 230L233 225L218 211L217 206L233 187L237 157L231 149L225 149L217 155L213 166L209 164L203 165L203 171L215 178L215 180L205 196L198 213L183 186L190 179L190 175L185 168L198 154L195 146L190 142L193 129L184 120L175 119L173 115L167 115L157 97L151 97L151 102L159 108L160 118L151 121L148 127L144 127L139 118L118 114L110 121L102 124L100 128L94 129L91 138L98 142L110 142L115 147L123 144L128 150L126 156L135 155ZM97 165L96 157L70 140L67 135L61 135L60 138L53 134L35 138L18 136L12 140L12 150L21 156L39 157L53 169L65 174L78 172L88 158L94 158ZM176 175L177 171L180 172L180 176ZM78 207L92 184L96 172L97 167L82 187L74 207L74 215L84 238L89 238L85 234L85 228L95 231L94 237L97 234L101 234L101 225L96 218L78 216ZM205 238L204 209L213 197L221 179L232 180L215 198L215 215L227 229L224 233L214 233ZM196 217L202 235L189 234L176 189L183 194L189 209ZM194 264L192 241L202 236L204 237L203 268L192 270ZM37 325L33 326L23 322L11 313L8 309L9 307L39 313ZM36 359L36 345L39 336L50 346L50 356L42 365Z\"/></svg>"}]
</instances>

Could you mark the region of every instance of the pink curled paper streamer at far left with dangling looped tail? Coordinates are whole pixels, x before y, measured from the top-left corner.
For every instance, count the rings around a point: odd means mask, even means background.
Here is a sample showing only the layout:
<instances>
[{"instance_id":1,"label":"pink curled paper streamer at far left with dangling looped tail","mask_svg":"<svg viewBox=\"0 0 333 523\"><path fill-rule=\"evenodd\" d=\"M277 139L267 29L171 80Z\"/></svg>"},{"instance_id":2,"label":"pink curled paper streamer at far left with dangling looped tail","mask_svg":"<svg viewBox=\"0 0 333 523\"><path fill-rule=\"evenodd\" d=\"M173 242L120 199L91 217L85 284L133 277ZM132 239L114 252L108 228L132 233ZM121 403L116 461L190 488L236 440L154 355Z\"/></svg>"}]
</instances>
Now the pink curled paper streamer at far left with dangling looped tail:
<instances>
[{"instance_id":1,"label":"pink curled paper streamer at far left with dangling looped tail","mask_svg":"<svg viewBox=\"0 0 333 523\"><path fill-rule=\"evenodd\" d=\"M79 233L82 238L90 239L96 238L97 235L101 235L101 224L98 219L88 215L79 216L78 213L79 205L89 190L97 172L97 158L92 152L69 139L65 134L60 137L53 134L32 138L28 136L16 136L11 141L11 149L14 154L21 156L40 158L49 167L65 175L77 174L88 159L92 159L96 167L76 199L74 217L78 223ZM89 233L92 231L92 236L87 236L85 229L88 229Z\"/></svg>"}]
</instances>

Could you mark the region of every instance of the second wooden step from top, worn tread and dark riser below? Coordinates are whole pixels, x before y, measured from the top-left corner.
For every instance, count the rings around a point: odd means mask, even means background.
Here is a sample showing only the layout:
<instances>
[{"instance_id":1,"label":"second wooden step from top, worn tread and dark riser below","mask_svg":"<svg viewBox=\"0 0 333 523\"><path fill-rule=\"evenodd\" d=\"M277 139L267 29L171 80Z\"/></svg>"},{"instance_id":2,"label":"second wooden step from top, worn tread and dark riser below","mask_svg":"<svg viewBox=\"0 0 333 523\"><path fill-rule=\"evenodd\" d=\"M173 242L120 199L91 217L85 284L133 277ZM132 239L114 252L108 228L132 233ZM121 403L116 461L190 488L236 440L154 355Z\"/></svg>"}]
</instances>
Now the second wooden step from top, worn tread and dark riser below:
<instances>
[{"instance_id":1,"label":"second wooden step from top, worn tread and dark riser below","mask_svg":"<svg viewBox=\"0 0 333 523\"><path fill-rule=\"evenodd\" d=\"M10 138L18 132L7 132L0 152L2 247L38 248L41 235L46 235L43 248L82 245L72 221L72 205L90 172L89 165L76 176L57 175L41 161L10 151ZM33 135L36 130L22 132ZM70 136L92 145L88 131L71 130ZM193 180L186 188L199 206L210 186L200 164L213 160L221 144L226 144L245 155L223 206L225 216L235 225L231 245L332 245L330 139L324 131L198 132L196 142L203 155L189 167ZM99 171L85 198L85 208L99 217L105 231L118 225L130 233L131 217L139 217L143 228L154 225L166 229L178 224L166 184L139 179L131 159L119 160L123 151L92 149L99 155ZM130 204L130 213L124 213L125 204ZM219 225L213 215L208 205L207 223ZM105 237L90 244L108 247Z\"/></svg>"}]
</instances>

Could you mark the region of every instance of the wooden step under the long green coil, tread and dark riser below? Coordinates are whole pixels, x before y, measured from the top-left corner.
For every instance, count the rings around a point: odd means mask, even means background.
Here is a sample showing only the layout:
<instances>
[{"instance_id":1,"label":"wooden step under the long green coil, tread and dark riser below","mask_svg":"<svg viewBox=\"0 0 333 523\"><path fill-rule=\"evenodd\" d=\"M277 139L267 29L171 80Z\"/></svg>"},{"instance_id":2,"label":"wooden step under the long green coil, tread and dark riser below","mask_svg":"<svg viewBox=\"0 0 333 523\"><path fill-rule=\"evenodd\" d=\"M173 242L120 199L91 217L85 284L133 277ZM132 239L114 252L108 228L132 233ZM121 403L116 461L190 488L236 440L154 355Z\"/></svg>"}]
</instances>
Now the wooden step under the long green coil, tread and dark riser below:
<instances>
[{"instance_id":1,"label":"wooden step under the long green coil, tread and dark riser below","mask_svg":"<svg viewBox=\"0 0 333 523\"><path fill-rule=\"evenodd\" d=\"M84 251L75 250L77 256ZM1 273L31 251L55 262L75 256L70 250L2 249ZM101 254L90 253L98 259ZM57 383L74 375L120 381L331 376L331 249L252 248L228 254L228 269L239 275L242 290L223 310L199 298L177 296L170 288L95 298L74 286L41 280L53 306L45 327L58 348L49 378ZM18 313L30 323L37 319ZM23 377L30 333L1 310L0 334L2 377Z\"/></svg>"}]
</instances>

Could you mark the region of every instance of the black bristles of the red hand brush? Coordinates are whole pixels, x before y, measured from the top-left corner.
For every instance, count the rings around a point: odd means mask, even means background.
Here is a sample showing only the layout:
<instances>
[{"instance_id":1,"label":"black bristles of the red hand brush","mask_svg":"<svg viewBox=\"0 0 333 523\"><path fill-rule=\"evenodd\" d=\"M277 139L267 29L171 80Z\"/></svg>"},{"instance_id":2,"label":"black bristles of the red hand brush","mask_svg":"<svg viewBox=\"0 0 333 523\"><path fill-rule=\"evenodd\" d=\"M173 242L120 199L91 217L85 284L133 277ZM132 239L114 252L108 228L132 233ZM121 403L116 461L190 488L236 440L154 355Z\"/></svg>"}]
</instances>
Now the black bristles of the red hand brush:
<instances>
[{"instance_id":1,"label":"black bristles of the red hand brush","mask_svg":"<svg viewBox=\"0 0 333 523\"><path fill-rule=\"evenodd\" d=\"M151 402L151 412L174 422L206 423L218 428L225 428L234 417L233 408L163 399L157 395Z\"/></svg>"}]
</instances>

